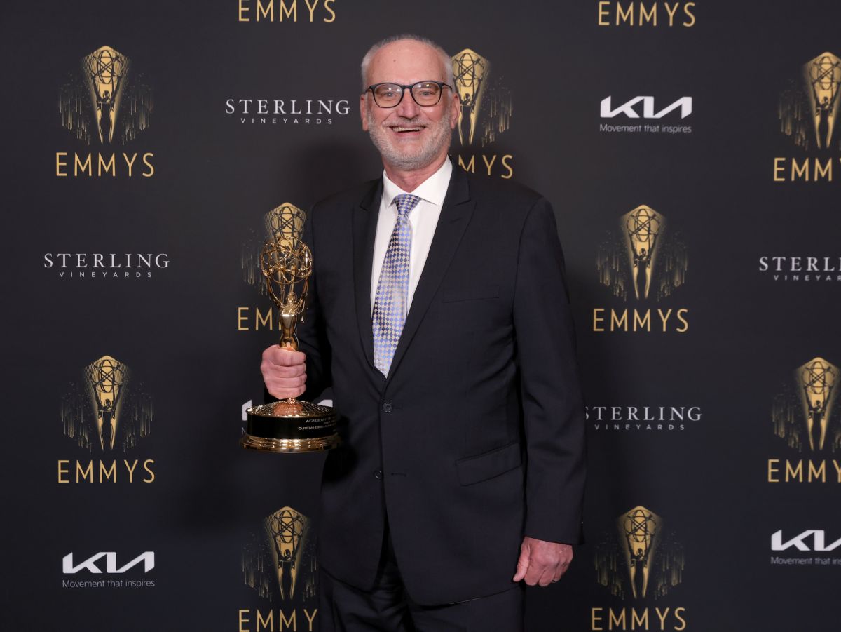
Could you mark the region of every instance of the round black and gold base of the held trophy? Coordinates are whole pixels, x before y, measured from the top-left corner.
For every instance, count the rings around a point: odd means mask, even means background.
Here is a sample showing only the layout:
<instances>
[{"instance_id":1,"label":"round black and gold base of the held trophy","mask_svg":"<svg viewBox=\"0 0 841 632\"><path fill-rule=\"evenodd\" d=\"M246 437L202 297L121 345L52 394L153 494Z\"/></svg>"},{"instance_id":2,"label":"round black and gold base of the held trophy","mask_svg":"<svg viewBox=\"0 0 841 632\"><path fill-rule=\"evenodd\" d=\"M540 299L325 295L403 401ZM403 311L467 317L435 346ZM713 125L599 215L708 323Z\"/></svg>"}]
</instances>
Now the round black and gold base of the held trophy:
<instances>
[{"instance_id":1,"label":"round black and gold base of the held trophy","mask_svg":"<svg viewBox=\"0 0 841 632\"><path fill-rule=\"evenodd\" d=\"M320 452L339 446L336 411L294 399L253 406L246 411L246 434L240 445L275 454Z\"/></svg>"}]
</instances>

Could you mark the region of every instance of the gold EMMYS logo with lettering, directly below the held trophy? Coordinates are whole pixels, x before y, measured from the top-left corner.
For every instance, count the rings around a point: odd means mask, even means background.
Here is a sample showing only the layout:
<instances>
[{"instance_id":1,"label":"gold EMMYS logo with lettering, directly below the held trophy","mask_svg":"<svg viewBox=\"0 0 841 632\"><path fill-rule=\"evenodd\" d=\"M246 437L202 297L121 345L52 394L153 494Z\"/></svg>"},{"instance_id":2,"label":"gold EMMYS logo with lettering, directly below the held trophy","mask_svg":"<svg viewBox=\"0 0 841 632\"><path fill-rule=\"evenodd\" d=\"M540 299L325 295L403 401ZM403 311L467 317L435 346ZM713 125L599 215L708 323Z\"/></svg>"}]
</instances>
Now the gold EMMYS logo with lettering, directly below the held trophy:
<instances>
[{"instance_id":1,"label":"gold EMMYS logo with lettering, directly below the held trophy","mask_svg":"<svg viewBox=\"0 0 841 632\"><path fill-rule=\"evenodd\" d=\"M283 507L265 518L262 528L251 534L242 551L243 581L260 597L282 605L277 610L241 608L239 629L251 629L244 627L251 624L257 629L297 629L299 618L314 629L318 609L309 604L317 597L318 563L310 531L309 518L292 507Z\"/></svg>"}]
</instances>

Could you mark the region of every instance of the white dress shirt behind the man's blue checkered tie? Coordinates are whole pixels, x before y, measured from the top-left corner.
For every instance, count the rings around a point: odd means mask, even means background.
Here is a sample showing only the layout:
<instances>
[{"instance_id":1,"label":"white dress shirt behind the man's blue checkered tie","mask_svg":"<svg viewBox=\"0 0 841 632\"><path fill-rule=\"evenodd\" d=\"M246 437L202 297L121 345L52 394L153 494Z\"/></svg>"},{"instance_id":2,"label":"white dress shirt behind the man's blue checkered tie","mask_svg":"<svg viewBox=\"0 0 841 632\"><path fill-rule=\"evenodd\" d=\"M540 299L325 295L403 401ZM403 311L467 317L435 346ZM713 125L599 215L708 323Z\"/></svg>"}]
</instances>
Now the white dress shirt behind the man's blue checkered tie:
<instances>
[{"instance_id":1,"label":"white dress shirt behind the man's blue checkered tie","mask_svg":"<svg viewBox=\"0 0 841 632\"><path fill-rule=\"evenodd\" d=\"M409 214L409 223L412 231L412 247L409 254L409 296L406 300L406 311L412 304L412 297L415 295L415 288L418 280L421 279L426 255L429 254L429 247L432 243L432 236L435 235L435 227L438 224L438 217L441 215L444 196L447 195L447 187L450 185L452 174L452 162L450 159L444 161L441 168L421 183L411 195L421 198L418 205ZM383 197L379 201L379 215L377 219L377 234L373 242L373 266L371 268L371 311L377 297L377 284L379 274L383 269L385 251L389 249L389 239L397 223L397 204L394 198L399 194L407 193L394 184L383 170Z\"/></svg>"}]
</instances>

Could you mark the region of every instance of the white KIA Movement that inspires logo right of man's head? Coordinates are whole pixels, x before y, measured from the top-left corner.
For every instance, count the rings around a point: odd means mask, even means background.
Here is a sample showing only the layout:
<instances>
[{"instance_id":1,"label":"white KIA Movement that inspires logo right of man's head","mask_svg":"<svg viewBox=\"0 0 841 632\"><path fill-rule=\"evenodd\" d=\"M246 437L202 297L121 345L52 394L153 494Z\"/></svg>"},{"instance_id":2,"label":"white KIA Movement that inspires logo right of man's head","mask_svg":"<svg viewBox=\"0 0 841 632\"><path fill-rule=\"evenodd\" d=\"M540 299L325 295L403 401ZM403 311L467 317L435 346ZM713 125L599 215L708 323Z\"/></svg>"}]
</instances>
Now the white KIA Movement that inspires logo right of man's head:
<instances>
[{"instance_id":1,"label":"white KIA Movement that inspires logo right of man's head","mask_svg":"<svg viewBox=\"0 0 841 632\"><path fill-rule=\"evenodd\" d=\"M624 103L613 97L601 99L599 115L602 122L599 131L609 133L645 133L645 134L691 134L692 126L683 125L683 119L692 114L692 98L680 97L670 104L658 99L655 106L653 97L632 97ZM610 123L605 122L607 119ZM643 119L645 122L637 122ZM660 122L665 119L665 122ZM674 121L680 119L680 125ZM627 122L626 122L627 121ZM649 122L650 121L650 122Z\"/></svg>"}]
</instances>

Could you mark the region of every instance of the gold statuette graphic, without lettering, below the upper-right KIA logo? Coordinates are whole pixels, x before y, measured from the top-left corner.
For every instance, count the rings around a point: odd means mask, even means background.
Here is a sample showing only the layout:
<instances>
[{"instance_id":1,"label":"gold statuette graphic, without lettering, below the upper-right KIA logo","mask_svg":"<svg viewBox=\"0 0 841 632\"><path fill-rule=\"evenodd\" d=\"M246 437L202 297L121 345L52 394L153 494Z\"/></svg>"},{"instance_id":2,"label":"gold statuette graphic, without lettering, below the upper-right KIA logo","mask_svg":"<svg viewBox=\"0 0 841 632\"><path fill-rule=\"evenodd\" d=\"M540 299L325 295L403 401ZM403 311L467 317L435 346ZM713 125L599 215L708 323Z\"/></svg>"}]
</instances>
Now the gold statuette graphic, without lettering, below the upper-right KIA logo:
<instances>
[{"instance_id":1,"label":"gold statuette graphic, without lettering, below the upper-right KIA logo","mask_svg":"<svg viewBox=\"0 0 841 632\"><path fill-rule=\"evenodd\" d=\"M622 215L617 234L599 247L599 281L614 296L627 300L657 300L670 296L686 281L686 247L680 239L666 241L666 219L650 206Z\"/></svg>"}]
</instances>

